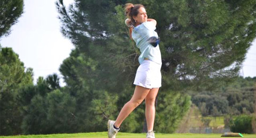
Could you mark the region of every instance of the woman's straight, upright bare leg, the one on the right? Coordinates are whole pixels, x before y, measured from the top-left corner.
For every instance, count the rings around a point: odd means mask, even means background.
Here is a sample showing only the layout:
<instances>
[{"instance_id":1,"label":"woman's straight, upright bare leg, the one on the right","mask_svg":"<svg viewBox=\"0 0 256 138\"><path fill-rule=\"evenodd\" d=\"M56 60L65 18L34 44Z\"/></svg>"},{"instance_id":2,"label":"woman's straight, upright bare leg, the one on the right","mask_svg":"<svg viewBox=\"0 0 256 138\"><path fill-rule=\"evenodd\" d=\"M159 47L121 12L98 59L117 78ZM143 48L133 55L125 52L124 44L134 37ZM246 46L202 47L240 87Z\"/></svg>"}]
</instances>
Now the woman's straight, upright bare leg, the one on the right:
<instances>
[{"instance_id":1,"label":"woman's straight, upright bare leg, the one on the right","mask_svg":"<svg viewBox=\"0 0 256 138\"><path fill-rule=\"evenodd\" d=\"M155 121L155 100L158 93L159 88L153 88L149 91L148 95L146 96L146 120L147 120L147 128L148 131L153 131L154 121Z\"/></svg>"}]
</instances>

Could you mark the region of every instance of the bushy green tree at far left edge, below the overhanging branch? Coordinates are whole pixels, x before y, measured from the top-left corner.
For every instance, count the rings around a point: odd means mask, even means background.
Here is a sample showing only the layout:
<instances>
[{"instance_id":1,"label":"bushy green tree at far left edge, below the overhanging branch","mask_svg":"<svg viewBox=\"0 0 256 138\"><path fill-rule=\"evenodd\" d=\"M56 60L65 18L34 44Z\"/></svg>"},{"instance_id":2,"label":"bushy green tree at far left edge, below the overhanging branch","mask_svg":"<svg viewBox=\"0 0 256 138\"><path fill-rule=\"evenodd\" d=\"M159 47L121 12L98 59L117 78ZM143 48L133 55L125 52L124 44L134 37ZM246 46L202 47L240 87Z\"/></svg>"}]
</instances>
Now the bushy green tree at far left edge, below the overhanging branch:
<instances>
[{"instance_id":1,"label":"bushy green tree at far left edge, below the overhanging branch","mask_svg":"<svg viewBox=\"0 0 256 138\"><path fill-rule=\"evenodd\" d=\"M12 48L0 47L0 135L19 134L22 116L17 102L18 90L33 84L33 70L20 61Z\"/></svg>"}]
</instances>

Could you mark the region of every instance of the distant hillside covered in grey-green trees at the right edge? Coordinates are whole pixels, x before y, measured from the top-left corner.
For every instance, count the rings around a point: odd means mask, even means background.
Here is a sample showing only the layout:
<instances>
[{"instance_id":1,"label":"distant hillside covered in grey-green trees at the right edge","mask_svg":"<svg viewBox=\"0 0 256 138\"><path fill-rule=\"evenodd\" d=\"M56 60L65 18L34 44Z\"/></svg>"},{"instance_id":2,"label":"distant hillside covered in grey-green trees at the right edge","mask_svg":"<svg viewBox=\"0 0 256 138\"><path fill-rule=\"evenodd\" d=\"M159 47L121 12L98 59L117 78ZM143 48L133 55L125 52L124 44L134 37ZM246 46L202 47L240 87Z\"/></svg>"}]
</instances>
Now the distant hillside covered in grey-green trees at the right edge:
<instances>
[{"instance_id":1,"label":"distant hillside covered in grey-green trees at the right edge","mask_svg":"<svg viewBox=\"0 0 256 138\"><path fill-rule=\"evenodd\" d=\"M256 77L237 77L230 84L212 91L190 92L192 102L203 116L239 115L253 113Z\"/></svg>"}]
</instances>

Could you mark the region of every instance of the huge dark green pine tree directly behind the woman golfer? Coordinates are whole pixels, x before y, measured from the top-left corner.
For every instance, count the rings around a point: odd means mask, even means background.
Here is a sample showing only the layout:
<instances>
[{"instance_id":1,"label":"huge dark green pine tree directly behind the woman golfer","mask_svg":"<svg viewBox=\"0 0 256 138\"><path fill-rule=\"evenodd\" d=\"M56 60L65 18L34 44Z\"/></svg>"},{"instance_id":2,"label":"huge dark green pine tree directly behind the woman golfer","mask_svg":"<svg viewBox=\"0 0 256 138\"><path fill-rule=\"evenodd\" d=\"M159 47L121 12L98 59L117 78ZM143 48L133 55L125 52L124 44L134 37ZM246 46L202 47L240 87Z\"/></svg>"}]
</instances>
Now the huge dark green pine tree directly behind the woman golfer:
<instances>
[{"instance_id":1,"label":"huge dark green pine tree directly behind the woman golfer","mask_svg":"<svg viewBox=\"0 0 256 138\"><path fill-rule=\"evenodd\" d=\"M118 93L119 110L132 94L140 53L124 24L123 6L128 2L145 5L149 18L157 20L163 87L156 109L166 118L156 116L155 128L170 133L189 107L187 89L212 89L238 75L255 38L256 1L77 0L67 10L59 0L62 33L76 47L60 71L67 87L75 88L73 94L86 93L90 104L93 91L106 90ZM141 108L123 125L141 122Z\"/></svg>"}]
</instances>

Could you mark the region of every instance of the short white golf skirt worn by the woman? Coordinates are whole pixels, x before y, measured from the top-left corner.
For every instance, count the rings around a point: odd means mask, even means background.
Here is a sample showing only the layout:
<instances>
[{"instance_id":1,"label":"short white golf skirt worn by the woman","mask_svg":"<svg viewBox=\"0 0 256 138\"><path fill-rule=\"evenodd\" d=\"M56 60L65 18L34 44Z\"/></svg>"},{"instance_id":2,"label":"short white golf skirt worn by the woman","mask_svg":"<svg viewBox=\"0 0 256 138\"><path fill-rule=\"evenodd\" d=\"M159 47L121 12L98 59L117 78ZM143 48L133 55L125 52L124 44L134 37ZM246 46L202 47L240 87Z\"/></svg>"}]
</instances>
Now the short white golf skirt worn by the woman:
<instances>
[{"instance_id":1,"label":"short white golf skirt worn by the woman","mask_svg":"<svg viewBox=\"0 0 256 138\"><path fill-rule=\"evenodd\" d=\"M161 66L162 64L144 60L138 67L133 84L149 89L161 87Z\"/></svg>"}]
</instances>

